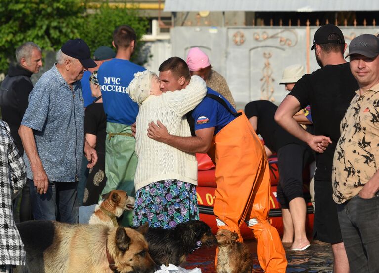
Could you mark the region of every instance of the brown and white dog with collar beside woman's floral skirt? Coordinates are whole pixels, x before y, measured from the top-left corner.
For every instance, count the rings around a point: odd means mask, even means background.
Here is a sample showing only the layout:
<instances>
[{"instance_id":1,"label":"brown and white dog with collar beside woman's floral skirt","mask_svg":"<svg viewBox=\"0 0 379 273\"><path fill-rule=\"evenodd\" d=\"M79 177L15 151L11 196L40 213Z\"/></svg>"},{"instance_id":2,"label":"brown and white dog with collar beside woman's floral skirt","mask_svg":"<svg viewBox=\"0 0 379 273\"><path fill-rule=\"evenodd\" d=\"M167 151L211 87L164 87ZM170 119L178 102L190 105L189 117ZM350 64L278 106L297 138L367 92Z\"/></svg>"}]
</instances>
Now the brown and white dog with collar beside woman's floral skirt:
<instances>
[{"instance_id":1,"label":"brown and white dog with collar beside woman's floral skirt","mask_svg":"<svg viewBox=\"0 0 379 273\"><path fill-rule=\"evenodd\" d=\"M127 196L124 190L112 190L103 196L103 199L95 207L88 224L102 224L108 227L117 227L117 219L124 210L134 209L135 198Z\"/></svg>"}]
</instances>

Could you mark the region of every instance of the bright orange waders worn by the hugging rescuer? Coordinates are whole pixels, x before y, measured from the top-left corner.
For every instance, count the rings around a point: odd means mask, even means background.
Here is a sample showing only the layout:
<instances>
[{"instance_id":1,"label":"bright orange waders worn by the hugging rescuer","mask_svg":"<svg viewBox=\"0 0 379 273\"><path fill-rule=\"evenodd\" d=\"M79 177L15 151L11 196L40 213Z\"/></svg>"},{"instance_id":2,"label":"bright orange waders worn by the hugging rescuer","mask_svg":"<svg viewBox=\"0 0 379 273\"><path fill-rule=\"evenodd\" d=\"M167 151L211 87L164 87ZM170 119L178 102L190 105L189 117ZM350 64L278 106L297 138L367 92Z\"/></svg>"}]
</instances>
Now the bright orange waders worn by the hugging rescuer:
<instances>
[{"instance_id":1,"label":"bright orange waders worn by the hugging rescuer","mask_svg":"<svg viewBox=\"0 0 379 273\"><path fill-rule=\"evenodd\" d=\"M246 222L258 241L262 269L285 273L286 253L278 231L268 222L270 172L266 153L244 113L213 137L208 155L216 165L217 226L238 233L242 242L240 227Z\"/></svg>"}]
</instances>

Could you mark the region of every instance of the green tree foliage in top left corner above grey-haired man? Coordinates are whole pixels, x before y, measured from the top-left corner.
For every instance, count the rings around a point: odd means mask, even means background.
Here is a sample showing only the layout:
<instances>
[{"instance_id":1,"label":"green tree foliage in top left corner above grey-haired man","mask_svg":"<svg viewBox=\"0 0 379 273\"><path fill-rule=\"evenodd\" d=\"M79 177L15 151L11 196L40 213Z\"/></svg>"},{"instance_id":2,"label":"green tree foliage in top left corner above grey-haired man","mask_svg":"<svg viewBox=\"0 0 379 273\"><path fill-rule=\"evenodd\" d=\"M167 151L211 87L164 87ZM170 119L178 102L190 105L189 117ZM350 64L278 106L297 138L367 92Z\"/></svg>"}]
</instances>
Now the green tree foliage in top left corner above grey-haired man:
<instances>
[{"instance_id":1,"label":"green tree foliage in top left corner above grey-haired man","mask_svg":"<svg viewBox=\"0 0 379 273\"><path fill-rule=\"evenodd\" d=\"M0 71L5 72L15 50L33 41L43 50L57 50L79 36L85 5L80 0L1 0Z\"/></svg>"}]
</instances>

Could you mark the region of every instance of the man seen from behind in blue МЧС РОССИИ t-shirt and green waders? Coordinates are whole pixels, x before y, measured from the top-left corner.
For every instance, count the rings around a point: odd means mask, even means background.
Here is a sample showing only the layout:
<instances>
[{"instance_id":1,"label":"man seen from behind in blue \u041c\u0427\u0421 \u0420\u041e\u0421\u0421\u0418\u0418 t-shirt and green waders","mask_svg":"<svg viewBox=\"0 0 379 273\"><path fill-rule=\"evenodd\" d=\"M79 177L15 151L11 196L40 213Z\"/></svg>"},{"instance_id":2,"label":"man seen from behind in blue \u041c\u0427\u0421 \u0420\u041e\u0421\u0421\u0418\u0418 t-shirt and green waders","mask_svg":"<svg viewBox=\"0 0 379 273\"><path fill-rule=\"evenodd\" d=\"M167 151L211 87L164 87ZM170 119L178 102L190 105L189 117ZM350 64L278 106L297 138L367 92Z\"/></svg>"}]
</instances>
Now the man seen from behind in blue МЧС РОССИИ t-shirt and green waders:
<instances>
[{"instance_id":1,"label":"man seen from behind in blue \u041c\u0427\u0421 \u0420\u041e\u0421\u0421\u0418\u0418 t-shirt and green waders","mask_svg":"<svg viewBox=\"0 0 379 273\"><path fill-rule=\"evenodd\" d=\"M134 73L145 68L130 62L136 43L135 31L126 25L113 32L112 44L117 50L113 60L99 68L97 79L101 87L104 111L107 114L107 137L105 140L105 174L107 183L103 194L113 189L122 189L135 196L134 175L137 168L135 139L131 124L138 114L138 105L126 92ZM133 223L133 213L124 213L123 225Z\"/></svg>"}]
</instances>

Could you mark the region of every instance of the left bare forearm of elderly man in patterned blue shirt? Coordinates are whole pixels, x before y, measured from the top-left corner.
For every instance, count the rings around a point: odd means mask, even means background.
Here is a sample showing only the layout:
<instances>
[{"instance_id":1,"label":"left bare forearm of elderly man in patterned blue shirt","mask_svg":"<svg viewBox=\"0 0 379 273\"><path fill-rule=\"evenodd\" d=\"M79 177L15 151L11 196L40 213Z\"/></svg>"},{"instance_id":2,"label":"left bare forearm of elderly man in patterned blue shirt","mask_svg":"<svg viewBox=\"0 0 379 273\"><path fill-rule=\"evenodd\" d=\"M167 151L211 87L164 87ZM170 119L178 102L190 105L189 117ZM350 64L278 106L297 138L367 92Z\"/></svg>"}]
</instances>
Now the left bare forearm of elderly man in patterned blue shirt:
<instances>
[{"instance_id":1,"label":"left bare forearm of elderly man in patterned blue shirt","mask_svg":"<svg viewBox=\"0 0 379 273\"><path fill-rule=\"evenodd\" d=\"M18 134L20 135L24 151L30 161L31 169L42 165L40 156L37 152L36 140L34 139L33 130L27 126L21 125Z\"/></svg>"}]
</instances>

